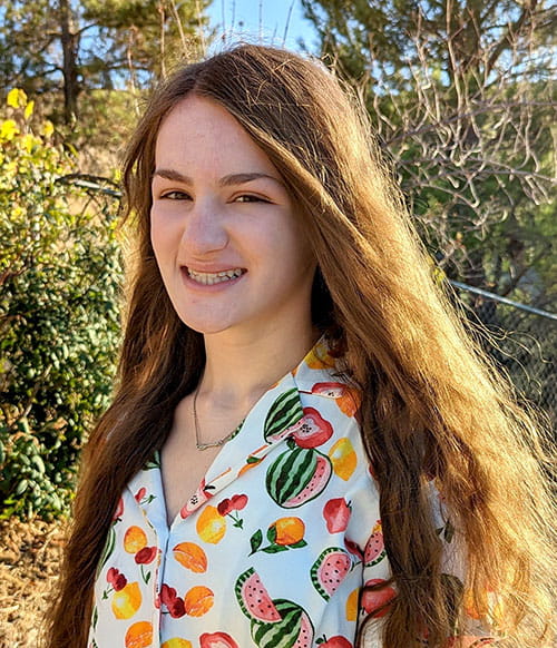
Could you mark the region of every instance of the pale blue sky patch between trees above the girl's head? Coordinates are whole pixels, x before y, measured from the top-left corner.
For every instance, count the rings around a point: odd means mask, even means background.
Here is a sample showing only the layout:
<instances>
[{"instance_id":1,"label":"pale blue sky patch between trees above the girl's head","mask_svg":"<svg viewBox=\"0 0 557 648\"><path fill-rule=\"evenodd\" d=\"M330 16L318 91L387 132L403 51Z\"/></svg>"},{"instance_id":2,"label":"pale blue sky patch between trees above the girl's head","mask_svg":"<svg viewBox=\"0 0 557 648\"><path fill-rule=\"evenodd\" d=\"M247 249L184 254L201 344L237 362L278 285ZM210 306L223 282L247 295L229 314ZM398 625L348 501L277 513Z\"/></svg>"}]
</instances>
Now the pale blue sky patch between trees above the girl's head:
<instances>
[{"instance_id":1,"label":"pale blue sky patch between trees above the girl's head","mask_svg":"<svg viewBox=\"0 0 557 648\"><path fill-rule=\"evenodd\" d=\"M213 0L207 14L218 36L224 33L227 41L244 38L250 42L297 50L297 41L302 38L309 51L316 53L315 33L312 24L303 18L301 0Z\"/></svg>"}]
</instances>

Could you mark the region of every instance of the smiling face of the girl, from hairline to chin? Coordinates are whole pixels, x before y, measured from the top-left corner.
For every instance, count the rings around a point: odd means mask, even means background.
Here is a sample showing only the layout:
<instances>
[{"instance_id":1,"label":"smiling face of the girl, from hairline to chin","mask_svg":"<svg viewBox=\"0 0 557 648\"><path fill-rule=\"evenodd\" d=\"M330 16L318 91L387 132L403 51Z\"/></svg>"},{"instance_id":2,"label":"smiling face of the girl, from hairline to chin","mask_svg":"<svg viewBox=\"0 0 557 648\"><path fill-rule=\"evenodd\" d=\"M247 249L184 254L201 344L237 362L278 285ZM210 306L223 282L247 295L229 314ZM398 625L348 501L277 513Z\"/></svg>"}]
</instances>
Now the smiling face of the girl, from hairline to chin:
<instances>
[{"instance_id":1,"label":"smiling face of the girl, from hairline to chin","mask_svg":"<svg viewBox=\"0 0 557 648\"><path fill-rule=\"evenodd\" d=\"M180 320L204 334L311 326L315 261L280 173L219 105L187 96L157 137L152 243Z\"/></svg>"}]
</instances>

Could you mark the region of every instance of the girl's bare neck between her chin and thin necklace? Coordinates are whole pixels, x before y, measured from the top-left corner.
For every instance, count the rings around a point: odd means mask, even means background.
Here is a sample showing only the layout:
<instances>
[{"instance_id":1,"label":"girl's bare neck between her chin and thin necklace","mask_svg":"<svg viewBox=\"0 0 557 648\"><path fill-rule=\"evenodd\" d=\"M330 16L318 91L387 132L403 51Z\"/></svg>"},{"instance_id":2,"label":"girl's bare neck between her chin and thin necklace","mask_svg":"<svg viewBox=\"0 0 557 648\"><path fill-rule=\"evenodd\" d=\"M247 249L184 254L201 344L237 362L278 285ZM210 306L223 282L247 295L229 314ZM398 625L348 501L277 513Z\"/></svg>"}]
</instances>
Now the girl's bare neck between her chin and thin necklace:
<instances>
[{"instance_id":1,"label":"girl's bare neck between her chin and thin necklace","mask_svg":"<svg viewBox=\"0 0 557 648\"><path fill-rule=\"evenodd\" d=\"M225 409L250 408L294 369L319 337L309 324L297 331L281 328L260 336L205 335L206 364L199 394Z\"/></svg>"}]
</instances>

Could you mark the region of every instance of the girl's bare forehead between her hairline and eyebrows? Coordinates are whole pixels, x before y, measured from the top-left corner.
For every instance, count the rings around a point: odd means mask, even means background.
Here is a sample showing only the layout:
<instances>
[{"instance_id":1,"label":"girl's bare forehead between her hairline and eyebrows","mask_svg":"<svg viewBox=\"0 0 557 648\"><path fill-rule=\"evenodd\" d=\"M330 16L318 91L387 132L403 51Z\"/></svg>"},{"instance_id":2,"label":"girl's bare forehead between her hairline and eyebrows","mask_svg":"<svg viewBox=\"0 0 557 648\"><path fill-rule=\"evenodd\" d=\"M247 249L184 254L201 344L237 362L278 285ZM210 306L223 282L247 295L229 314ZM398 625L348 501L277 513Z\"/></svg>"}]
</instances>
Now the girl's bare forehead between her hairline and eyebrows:
<instances>
[{"instance_id":1,"label":"girl's bare forehead between her hairline and eyebrows","mask_svg":"<svg viewBox=\"0 0 557 648\"><path fill-rule=\"evenodd\" d=\"M182 99L163 120L155 157L157 166L240 165L242 168L235 170L276 173L235 117L219 104L196 95Z\"/></svg>"}]
</instances>

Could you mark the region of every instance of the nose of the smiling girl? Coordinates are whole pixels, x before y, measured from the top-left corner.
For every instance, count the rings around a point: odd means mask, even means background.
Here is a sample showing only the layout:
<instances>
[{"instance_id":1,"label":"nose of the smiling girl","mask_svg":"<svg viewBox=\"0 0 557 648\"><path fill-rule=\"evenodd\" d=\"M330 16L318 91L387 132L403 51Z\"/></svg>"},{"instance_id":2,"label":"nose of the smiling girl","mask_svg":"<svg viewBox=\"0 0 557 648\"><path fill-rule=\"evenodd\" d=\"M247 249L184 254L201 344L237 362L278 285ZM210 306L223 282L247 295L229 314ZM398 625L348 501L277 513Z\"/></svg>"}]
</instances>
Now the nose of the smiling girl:
<instances>
[{"instance_id":1,"label":"nose of the smiling girl","mask_svg":"<svg viewBox=\"0 0 557 648\"><path fill-rule=\"evenodd\" d=\"M219 252L228 244L228 232L216 200L197 199L188 210L182 234L182 246L188 256L198 257Z\"/></svg>"}]
</instances>

